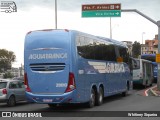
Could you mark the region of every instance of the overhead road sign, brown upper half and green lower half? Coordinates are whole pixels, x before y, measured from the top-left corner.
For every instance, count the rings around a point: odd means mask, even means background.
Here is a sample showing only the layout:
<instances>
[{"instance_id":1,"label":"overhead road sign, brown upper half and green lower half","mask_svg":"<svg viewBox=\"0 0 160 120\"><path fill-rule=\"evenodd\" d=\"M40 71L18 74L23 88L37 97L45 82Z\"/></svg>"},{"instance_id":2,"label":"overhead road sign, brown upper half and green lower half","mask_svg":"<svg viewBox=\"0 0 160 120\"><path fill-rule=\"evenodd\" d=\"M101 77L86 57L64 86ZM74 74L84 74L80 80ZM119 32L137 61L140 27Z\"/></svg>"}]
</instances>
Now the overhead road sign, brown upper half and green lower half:
<instances>
[{"instance_id":1,"label":"overhead road sign, brown upper half and green lower half","mask_svg":"<svg viewBox=\"0 0 160 120\"><path fill-rule=\"evenodd\" d=\"M120 17L121 4L82 5L82 17Z\"/></svg>"}]
</instances>

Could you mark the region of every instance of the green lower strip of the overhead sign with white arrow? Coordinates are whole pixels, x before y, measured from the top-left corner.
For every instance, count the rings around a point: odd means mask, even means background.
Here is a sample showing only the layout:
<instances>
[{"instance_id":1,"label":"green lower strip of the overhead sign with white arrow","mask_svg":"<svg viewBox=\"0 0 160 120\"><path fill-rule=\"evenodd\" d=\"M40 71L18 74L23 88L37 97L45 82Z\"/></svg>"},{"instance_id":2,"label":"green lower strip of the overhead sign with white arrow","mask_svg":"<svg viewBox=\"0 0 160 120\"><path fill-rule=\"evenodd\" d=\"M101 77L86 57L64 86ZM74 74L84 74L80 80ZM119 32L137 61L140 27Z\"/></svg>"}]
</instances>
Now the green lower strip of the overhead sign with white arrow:
<instances>
[{"instance_id":1,"label":"green lower strip of the overhead sign with white arrow","mask_svg":"<svg viewBox=\"0 0 160 120\"><path fill-rule=\"evenodd\" d=\"M82 11L82 17L120 17L120 10Z\"/></svg>"}]
</instances>

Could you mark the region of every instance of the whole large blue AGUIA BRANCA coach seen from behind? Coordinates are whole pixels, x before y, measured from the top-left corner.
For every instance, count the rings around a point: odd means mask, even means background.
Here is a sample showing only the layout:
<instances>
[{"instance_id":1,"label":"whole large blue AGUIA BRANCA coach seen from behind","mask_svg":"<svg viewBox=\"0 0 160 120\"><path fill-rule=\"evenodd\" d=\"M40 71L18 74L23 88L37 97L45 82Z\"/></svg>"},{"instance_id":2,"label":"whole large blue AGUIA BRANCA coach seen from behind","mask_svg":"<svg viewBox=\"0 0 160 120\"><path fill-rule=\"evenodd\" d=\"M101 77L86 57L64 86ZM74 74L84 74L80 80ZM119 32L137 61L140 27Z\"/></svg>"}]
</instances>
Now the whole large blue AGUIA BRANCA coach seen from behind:
<instances>
[{"instance_id":1,"label":"whole large blue AGUIA BRANCA coach seen from behind","mask_svg":"<svg viewBox=\"0 0 160 120\"><path fill-rule=\"evenodd\" d=\"M28 101L54 107L65 103L101 105L132 88L126 45L74 30L37 30L25 37Z\"/></svg>"}]
</instances>

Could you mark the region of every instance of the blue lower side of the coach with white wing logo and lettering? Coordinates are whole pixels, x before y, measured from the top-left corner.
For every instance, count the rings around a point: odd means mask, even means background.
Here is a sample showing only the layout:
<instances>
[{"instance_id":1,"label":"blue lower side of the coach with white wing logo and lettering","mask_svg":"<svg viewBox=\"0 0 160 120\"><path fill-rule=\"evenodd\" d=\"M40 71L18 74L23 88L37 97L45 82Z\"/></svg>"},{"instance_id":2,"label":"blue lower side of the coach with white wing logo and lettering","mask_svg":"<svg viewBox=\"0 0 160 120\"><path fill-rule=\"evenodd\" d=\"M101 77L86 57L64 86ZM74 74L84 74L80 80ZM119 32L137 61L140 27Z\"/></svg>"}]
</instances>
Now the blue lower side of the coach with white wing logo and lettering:
<instances>
[{"instance_id":1,"label":"blue lower side of the coach with white wing logo and lettering","mask_svg":"<svg viewBox=\"0 0 160 120\"><path fill-rule=\"evenodd\" d=\"M121 93L126 91L127 81L131 81L130 70L128 66L124 63L117 62L102 62L95 60L84 60L79 59L79 70L84 70L78 75L78 81L82 86L80 89L84 88L85 95L83 99L89 99L91 84L99 86L99 84L104 85L104 96L114 95L116 93ZM118 69L115 69L115 66ZM89 82L90 81L90 82ZM79 84L78 83L78 84ZM98 88L98 87L97 87ZM78 90L77 90L78 92Z\"/></svg>"}]
</instances>

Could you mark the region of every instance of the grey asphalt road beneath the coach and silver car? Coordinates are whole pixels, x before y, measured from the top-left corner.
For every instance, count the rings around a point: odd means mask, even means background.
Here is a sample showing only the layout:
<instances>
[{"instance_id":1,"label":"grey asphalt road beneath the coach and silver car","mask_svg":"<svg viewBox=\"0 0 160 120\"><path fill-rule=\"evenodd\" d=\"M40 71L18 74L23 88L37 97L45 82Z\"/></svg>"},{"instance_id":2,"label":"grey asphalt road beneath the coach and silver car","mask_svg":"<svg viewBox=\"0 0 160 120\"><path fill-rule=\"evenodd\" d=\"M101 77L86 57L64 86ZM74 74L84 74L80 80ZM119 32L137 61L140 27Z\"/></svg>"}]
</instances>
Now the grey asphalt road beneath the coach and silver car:
<instances>
[{"instance_id":1,"label":"grey asphalt road beneath the coach and silver car","mask_svg":"<svg viewBox=\"0 0 160 120\"><path fill-rule=\"evenodd\" d=\"M101 106L95 106L93 108L87 108L84 104L78 105L66 105L66 106L58 106L56 108L49 108L46 104L29 104L26 102L18 103L15 107L8 107L6 104L0 103L0 111L29 111L29 112L44 112L49 113L51 116L58 116L56 120L61 119L61 117L65 117L65 119L70 119L70 117L77 116L78 120L85 119L86 117L95 117L103 119L103 117L107 116L107 114L112 116L109 120L121 120L121 114L134 113L136 111L160 111L160 97L155 96L143 96L144 90L136 89L129 93L126 97L122 97L121 95L115 95L111 97L106 97L104 99L104 103ZM69 112L68 112L69 111ZM108 111L108 112L103 112ZM111 112L113 111L113 112ZM128 111L128 113L121 111ZM120 116L117 115L120 113ZM69 116L68 116L69 115ZM82 117L79 117L81 116ZM84 116L86 116L84 118ZM115 117L114 117L115 116ZM51 118L51 117L50 117ZM55 117L54 117L55 118ZM136 118L136 117L134 117ZM87 118L86 118L87 119ZM106 118L104 118L106 120ZM122 120L125 120L126 117ZM138 118L140 119L140 117ZM145 118L148 119L148 118ZM152 119L152 118L150 118ZM158 118L154 118L153 120L158 120ZM97 119L96 119L97 120ZM137 120L137 119L132 119ZM142 119L143 120L143 119Z\"/></svg>"}]
</instances>

